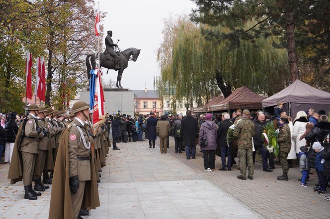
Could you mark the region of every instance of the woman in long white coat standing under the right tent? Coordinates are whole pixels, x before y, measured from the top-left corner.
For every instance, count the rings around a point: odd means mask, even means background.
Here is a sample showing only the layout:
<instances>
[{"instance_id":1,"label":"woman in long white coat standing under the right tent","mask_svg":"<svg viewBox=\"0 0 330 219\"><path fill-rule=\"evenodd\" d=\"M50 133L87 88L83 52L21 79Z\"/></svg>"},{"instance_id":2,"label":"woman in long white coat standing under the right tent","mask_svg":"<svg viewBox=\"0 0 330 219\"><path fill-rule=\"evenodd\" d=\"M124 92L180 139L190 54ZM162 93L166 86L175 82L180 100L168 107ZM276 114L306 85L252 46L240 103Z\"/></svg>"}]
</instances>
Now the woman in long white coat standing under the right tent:
<instances>
[{"instance_id":1,"label":"woman in long white coat standing under the right tent","mask_svg":"<svg viewBox=\"0 0 330 219\"><path fill-rule=\"evenodd\" d=\"M304 111L297 112L297 116L293 121L293 131L292 131L292 140L295 141L295 149L296 149L296 157L298 158L298 154L300 151L300 147L306 145L306 139L300 139L306 131L306 124L308 122L307 114Z\"/></svg>"}]
</instances>

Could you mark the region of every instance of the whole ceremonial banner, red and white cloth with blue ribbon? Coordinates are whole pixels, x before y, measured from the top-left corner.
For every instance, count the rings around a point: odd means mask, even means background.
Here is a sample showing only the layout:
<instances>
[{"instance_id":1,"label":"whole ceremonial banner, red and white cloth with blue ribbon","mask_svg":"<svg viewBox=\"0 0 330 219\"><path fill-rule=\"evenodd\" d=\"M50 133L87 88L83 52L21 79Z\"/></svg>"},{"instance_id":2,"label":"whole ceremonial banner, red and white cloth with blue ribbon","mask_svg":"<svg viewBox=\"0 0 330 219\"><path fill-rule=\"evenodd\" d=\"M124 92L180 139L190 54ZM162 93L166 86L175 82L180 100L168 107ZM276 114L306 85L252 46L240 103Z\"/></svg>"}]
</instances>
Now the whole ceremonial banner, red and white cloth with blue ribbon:
<instances>
[{"instance_id":1,"label":"whole ceremonial banner, red and white cloth with blue ribbon","mask_svg":"<svg viewBox=\"0 0 330 219\"><path fill-rule=\"evenodd\" d=\"M90 70L89 94L94 94L93 100L89 103L93 106L93 132L96 133L100 124L105 122L105 104L102 85L102 71L98 68ZM91 99L91 98L90 98Z\"/></svg>"}]
</instances>

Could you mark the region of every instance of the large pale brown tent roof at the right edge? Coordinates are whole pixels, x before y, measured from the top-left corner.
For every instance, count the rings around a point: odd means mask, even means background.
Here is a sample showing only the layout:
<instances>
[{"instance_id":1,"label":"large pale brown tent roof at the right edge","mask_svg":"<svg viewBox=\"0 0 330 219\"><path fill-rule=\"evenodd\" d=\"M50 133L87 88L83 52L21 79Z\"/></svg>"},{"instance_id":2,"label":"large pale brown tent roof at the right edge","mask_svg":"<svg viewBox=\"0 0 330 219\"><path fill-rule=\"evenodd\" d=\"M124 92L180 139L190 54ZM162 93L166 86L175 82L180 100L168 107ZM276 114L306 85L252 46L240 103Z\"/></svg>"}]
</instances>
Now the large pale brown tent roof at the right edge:
<instances>
[{"instance_id":1,"label":"large pale brown tent roof at the right edge","mask_svg":"<svg viewBox=\"0 0 330 219\"><path fill-rule=\"evenodd\" d=\"M300 80L295 80L290 86L262 101L262 107L270 107L282 103L313 103L330 102L330 93L314 88Z\"/></svg>"}]
</instances>

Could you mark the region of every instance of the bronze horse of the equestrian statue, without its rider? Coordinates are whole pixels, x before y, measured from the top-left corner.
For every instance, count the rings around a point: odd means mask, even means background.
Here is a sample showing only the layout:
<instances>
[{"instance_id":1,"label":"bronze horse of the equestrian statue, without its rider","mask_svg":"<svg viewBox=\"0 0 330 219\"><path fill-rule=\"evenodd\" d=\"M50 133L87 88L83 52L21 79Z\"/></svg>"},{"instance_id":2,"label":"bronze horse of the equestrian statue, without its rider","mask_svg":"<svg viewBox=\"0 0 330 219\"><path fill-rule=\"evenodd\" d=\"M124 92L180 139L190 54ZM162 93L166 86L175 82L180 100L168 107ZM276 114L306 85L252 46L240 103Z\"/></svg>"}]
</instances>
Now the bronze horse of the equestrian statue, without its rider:
<instances>
[{"instance_id":1,"label":"bronze horse of the equestrian statue, without its rider","mask_svg":"<svg viewBox=\"0 0 330 219\"><path fill-rule=\"evenodd\" d=\"M116 69L115 69L115 64L113 62L114 58L111 57L110 59L106 59L105 54L100 53L100 67L105 67L107 69L114 69L116 71L118 70L116 87L117 88L123 88L121 86L121 83L120 83L123 71L124 71L125 68L127 68L128 61L130 61L130 60L136 61L136 59L138 59L138 57L140 55L140 52L141 52L141 50L136 49L136 48L128 48L124 51L121 51L119 53L119 67L116 68ZM86 57L86 67L87 67L88 80L90 78L89 72L90 72L90 69L91 69L90 64L89 64L89 57L90 57L92 68L95 69L97 53L87 55L87 57Z\"/></svg>"}]
</instances>

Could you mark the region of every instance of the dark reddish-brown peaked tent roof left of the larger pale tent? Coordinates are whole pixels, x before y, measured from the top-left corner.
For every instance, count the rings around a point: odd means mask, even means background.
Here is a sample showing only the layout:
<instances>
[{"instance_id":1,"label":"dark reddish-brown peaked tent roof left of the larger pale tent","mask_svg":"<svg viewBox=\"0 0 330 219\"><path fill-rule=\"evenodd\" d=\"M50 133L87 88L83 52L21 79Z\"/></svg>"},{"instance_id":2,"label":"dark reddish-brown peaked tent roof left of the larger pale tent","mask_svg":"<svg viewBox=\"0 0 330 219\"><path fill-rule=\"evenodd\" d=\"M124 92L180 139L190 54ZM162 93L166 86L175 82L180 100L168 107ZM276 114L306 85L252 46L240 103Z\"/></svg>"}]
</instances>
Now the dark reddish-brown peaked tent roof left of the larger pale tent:
<instances>
[{"instance_id":1,"label":"dark reddish-brown peaked tent roof left of the larger pale tent","mask_svg":"<svg viewBox=\"0 0 330 219\"><path fill-rule=\"evenodd\" d=\"M261 101L264 98L253 93L247 86L237 88L229 97L217 105L210 107L211 110L228 109L261 109Z\"/></svg>"}]
</instances>

